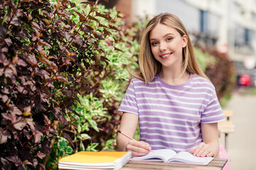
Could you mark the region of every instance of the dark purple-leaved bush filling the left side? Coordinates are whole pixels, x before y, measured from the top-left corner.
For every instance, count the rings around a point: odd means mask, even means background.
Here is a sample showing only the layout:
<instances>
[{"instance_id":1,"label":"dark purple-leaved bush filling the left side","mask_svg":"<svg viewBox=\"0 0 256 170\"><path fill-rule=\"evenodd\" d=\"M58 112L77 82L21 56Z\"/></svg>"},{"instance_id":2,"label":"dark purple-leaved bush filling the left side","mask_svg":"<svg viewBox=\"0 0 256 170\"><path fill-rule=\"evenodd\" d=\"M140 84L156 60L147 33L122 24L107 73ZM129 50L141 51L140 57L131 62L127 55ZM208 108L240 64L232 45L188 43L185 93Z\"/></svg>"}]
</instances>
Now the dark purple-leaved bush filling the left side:
<instances>
[{"instance_id":1,"label":"dark purple-leaved bush filling the left side","mask_svg":"<svg viewBox=\"0 0 256 170\"><path fill-rule=\"evenodd\" d=\"M43 162L43 158L50 156L53 146L63 155L70 154L80 141L90 138L79 131L87 128L76 124L75 115L80 113L73 105L89 100L103 109L103 101L93 97L83 101L78 94L96 92L107 55L121 51L114 36L119 13L112 18L97 12L97 2L1 1L1 169L44 168L48 159ZM108 86L102 84L102 90ZM85 119L96 131L100 129L94 124L98 119ZM82 139L75 138L72 130Z\"/></svg>"}]
</instances>

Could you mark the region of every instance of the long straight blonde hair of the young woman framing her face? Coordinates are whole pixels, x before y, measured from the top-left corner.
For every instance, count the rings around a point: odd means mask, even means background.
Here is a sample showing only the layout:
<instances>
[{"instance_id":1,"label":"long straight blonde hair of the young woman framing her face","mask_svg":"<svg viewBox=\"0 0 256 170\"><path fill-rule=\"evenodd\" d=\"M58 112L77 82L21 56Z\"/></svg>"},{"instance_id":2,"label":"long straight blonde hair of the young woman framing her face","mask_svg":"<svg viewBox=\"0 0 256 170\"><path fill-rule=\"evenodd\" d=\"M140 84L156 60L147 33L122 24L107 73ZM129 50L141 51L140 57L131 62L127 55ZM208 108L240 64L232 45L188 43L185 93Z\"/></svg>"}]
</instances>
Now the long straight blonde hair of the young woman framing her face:
<instances>
[{"instance_id":1,"label":"long straight blonde hair of the young woman framing her face","mask_svg":"<svg viewBox=\"0 0 256 170\"><path fill-rule=\"evenodd\" d=\"M149 34L158 23L176 29L178 33L180 33L181 37L183 37L183 35L186 35L188 37L188 33L186 31L186 28L183 26L183 23L181 23L177 16L174 16L171 13L161 13L158 16L152 18L151 21L149 21L141 35L141 47L139 51L139 72L130 72L134 77L141 79L146 83L149 83L151 80L153 80L156 74L161 71L161 63L154 58L151 52L151 46L149 42ZM199 66L198 61L196 60L196 55L193 51L193 45L189 37L186 47L183 47L182 55L182 74L184 72L188 72L191 74L197 74L198 76L208 79L208 77L206 77L206 74L203 73L203 70Z\"/></svg>"}]
</instances>

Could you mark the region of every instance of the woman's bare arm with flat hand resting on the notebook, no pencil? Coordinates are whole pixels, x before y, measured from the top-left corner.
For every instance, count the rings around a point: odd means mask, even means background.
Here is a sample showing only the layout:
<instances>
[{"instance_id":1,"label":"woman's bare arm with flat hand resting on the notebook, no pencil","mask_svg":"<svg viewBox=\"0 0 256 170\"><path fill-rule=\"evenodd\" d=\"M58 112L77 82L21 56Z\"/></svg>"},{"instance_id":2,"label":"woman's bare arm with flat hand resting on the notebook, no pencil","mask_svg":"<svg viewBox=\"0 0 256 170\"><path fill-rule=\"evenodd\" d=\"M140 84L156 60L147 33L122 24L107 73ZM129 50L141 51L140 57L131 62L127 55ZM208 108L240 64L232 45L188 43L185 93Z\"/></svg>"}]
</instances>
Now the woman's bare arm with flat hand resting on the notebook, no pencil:
<instances>
[{"instance_id":1,"label":"woman's bare arm with flat hand resting on the notebook, no pencil","mask_svg":"<svg viewBox=\"0 0 256 170\"><path fill-rule=\"evenodd\" d=\"M219 152L218 123L201 123L203 142L191 154L196 157L217 157Z\"/></svg>"}]
</instances>

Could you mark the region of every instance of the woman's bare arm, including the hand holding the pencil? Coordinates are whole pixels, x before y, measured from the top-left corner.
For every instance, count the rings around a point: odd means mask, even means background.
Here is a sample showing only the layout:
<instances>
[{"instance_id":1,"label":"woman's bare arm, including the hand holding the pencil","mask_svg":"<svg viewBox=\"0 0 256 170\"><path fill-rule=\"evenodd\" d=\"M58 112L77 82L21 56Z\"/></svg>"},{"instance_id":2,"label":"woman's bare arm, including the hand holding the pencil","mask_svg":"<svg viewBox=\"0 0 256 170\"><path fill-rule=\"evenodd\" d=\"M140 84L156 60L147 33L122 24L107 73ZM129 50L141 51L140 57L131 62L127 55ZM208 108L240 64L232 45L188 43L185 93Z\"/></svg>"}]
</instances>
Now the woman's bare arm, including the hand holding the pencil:
<instances>
[{"instance_id":1,"label":"woman's bare arm, including the hand holding the pencil","mask_svg":"<svg viewBox=\"0 0 256 170\"><path fill-rule=\"evenodd\" d=\"M124 132L129 137L134 137L138 123L138 115L133 113L123 113L119 130ZM117 135L117 147L119 151L132 152L132 157L143 156L151 151L151 147L148 143L137 140L129 140L129 138L119 133Z\"/></svg>"}]
</instances>

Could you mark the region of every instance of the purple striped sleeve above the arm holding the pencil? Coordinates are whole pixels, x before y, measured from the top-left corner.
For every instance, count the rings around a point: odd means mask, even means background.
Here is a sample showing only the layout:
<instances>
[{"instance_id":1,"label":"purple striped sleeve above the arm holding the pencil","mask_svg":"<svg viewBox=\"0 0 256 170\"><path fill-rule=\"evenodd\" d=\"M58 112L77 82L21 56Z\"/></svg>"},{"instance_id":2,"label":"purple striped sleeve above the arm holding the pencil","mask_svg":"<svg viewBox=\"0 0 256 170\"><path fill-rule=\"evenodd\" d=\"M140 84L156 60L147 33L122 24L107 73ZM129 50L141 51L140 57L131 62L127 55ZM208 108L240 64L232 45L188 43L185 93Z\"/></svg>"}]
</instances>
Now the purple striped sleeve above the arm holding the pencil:
<instances>
[{"instance_id":1,"label":"purple striped sleeve above the arm holding the pencil","mask_svg":"<svg viewBox=\"0 0 256 170\"><path fill-rule=\"evenodd\" d=\"M118 111L139 115L133 81L129 84Z\"/></svg>"}]
</instances>

